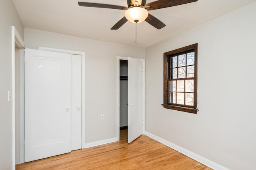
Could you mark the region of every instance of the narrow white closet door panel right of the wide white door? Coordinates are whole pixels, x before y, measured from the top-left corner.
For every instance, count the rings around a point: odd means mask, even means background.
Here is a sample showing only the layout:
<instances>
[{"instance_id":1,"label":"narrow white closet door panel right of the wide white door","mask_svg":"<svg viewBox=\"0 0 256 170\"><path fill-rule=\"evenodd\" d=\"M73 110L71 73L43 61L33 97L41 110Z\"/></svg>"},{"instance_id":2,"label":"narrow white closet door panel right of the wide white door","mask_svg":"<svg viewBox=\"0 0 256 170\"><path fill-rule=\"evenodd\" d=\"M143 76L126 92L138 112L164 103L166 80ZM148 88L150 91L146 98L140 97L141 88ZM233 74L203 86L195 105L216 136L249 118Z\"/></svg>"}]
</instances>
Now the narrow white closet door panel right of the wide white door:
<instances>
[{"instance_id":1,"label":"narrow white closet door panel right of the wide white door","mask_svg":"<svg viewBox=\"0 0 256 170\"><path fill-rule=\"evenodd\" d=\"M71 55L71 150L82 148L82 56Z\"/></svg>"}]
</instances>

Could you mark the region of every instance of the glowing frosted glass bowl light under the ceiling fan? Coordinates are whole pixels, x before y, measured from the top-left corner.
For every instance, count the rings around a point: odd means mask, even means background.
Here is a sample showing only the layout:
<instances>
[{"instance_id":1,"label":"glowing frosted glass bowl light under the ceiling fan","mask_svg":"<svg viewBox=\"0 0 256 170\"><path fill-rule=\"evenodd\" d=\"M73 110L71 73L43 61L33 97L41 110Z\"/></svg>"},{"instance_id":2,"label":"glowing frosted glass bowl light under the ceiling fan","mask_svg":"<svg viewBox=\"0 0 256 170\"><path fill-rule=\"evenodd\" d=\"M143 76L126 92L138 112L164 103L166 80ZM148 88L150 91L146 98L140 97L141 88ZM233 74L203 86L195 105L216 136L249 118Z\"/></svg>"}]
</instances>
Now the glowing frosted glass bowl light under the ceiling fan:
<instances>
[{"instance_id":1,"label":"glowing frosted glass bowl light under the ceiling fan","mask_svg":"<svg viewBox=\"0 0 256 170\"><path fill-rule=\"evenodd\" d=\"M148 17L148 11L145 8L134 6L132 8L129 8L124 13L125 18L135 23L136 20L138 20L137 23L140 23Z\"/></svg>"}]
</instances>

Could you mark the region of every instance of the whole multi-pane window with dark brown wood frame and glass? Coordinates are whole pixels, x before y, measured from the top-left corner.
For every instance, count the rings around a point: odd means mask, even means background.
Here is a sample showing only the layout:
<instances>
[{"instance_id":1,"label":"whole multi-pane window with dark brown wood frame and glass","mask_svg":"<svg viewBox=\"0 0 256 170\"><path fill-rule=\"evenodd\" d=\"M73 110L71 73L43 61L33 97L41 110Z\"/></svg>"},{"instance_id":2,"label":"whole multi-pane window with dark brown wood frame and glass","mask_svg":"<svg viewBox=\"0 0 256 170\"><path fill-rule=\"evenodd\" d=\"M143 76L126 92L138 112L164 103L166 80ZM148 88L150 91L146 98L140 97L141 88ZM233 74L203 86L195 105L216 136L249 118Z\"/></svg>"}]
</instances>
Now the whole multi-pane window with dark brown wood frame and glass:
<instances>
[{"instance_id":1,"label":"whole multi-pane window with dark brown wood frame and glass","mask_svg":"<svg viewBox=\"0 0 256 170\"><path fill-rule=\"evenodd\" d=\"M197 43L164 53L163 106L197 113Z\"/></svg>"}]
</instances>

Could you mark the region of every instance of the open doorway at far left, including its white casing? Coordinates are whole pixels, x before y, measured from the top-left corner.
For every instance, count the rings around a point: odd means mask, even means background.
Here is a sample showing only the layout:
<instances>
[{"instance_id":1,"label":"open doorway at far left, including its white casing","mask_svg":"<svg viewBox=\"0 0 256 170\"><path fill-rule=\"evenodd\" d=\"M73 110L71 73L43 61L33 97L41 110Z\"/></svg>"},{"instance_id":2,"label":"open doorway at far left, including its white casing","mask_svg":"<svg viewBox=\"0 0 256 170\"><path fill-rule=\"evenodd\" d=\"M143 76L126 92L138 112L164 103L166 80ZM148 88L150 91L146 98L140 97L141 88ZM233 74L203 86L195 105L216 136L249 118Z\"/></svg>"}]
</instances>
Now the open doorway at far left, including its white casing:
<instances>
[{"instance_id":1,"label":"open doorway at far left, including its white casing","mask_svg":"<svg viewBox=\"0 0 256 170\"><path fill-rule=\"evenodd\" d=\"M24 41L12 26L12 90L8 101L12 102L12 169L22 162L24 154ZM9 94L10 93L10 94Z\"/></svg>"}]
</instances>

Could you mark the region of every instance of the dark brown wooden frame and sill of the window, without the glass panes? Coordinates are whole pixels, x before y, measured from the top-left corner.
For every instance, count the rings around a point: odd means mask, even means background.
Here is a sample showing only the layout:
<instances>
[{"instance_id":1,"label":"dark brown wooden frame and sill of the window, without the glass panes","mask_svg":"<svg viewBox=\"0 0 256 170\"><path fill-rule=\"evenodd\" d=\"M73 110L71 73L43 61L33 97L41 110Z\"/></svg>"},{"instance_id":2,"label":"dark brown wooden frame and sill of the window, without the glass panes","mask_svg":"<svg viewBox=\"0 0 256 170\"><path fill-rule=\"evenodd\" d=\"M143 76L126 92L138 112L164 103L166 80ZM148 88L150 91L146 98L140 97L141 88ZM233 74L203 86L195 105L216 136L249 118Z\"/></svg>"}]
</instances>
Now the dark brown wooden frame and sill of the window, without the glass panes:
<instances>
[{"instance_id":1,"label":"dark brown wooden frame and sill of the window, without the glass panes","mask_svg":"<svg viewBox=\"0 0 256 170\"><path fill-rule=\"evenodd\" d=\"M182 47L180 49L176 49L176 50L164 53L164 104L162 104L164 108L184 111L188 113L195 113L195 114L197 113L198 111L197 109L197 46L198 44L196 43L196 44L188 45L186 47ZM189 51L194 51L194 78L192 78L194 80L194 106L170 104L168 103L168 98L169 98L168 81L170 81L169 75L168 75L168 70L170 69L168 64L168 58L170 58L171 56L182 54L182 53L183 54L188 53ZM186 80L186 79L191 79L191 78L177 78L176 80Z\"/></svg>"}]
</instances>

